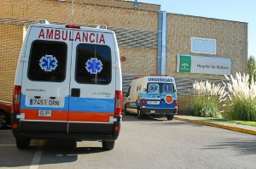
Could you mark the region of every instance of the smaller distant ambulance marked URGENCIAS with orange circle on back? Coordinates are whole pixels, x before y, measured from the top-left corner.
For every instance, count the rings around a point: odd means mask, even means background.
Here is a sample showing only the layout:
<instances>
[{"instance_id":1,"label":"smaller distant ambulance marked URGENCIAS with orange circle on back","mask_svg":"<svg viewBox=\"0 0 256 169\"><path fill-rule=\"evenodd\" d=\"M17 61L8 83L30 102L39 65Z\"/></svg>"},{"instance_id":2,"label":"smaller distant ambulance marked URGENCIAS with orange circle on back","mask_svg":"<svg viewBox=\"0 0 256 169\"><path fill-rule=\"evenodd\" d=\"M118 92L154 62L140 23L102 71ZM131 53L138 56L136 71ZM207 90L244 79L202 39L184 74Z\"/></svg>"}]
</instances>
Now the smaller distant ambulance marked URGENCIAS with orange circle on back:
<instances>
[{"instance_id":1,"label":"smaller distant ambulance marked URGENCIAS with orange circle on back","mask_svg":"<svg viewBox=\"0 0 256 169\"><path fill-rule=\"evenodd\" d=\"M166 116L172 120L177 114L177 88L172 76L143 76L131 81L126 93L125 115Z\"/></svg>"}]
</instances>

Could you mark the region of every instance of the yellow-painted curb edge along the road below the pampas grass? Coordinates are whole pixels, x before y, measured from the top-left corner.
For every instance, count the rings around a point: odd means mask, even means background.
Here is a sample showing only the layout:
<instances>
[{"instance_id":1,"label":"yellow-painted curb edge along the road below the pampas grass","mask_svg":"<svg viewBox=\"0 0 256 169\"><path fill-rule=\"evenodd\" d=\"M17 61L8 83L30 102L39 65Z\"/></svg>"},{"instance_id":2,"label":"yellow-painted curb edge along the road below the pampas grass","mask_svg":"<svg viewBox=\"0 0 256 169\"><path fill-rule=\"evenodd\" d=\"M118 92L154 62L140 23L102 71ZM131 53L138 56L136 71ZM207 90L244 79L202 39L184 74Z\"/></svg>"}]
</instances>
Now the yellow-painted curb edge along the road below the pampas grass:
<instances>
[{"instance_id":1,"label":"yellow-painted curb edge along the road below the pampas grass","mask_svg":"<svg viewBox=\"0 0 256 169\"><path fill-rule=\"evenodd\" d=\"M174 116L174 119L176 119L178 121L189 121L189 122L193 122L193 123L197 123L197 124L201 124L201 125L206 125L206 126L211 126L211 127L219 127L219 128L224 128L224 129L227 129L227 130L236 131L236 132L245 132L245 133L248 133L248 134L256 135L255 130L249 130L249 129L245 129L245 128L241 128L241 127L230 127L230 126L216 124L216 123L213 123L213 122L190 120L190 119L186 119L186 118L182 118L182 117L176 117L176 116Z\"/></svg>"}]
</instances>

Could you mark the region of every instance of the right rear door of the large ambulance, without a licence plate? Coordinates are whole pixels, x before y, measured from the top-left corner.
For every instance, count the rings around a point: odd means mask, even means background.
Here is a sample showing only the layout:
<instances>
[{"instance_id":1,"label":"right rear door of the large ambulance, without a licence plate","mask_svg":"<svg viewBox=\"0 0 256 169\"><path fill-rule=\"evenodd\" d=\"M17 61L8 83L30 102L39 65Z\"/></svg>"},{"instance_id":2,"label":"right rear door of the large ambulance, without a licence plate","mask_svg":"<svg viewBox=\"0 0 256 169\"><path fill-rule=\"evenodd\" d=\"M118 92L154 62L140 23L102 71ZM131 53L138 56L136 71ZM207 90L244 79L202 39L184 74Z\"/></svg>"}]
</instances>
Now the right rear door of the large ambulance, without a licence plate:
<instances>
[{"instance_id":1,"label":"right rear door of the large ambulance, without a licence plate","mask_svg":"<svg viewBox=\"0 0 256 169\"><path fill-rule=\"evenodd\" d=\"M113 133L117 48L111 31L73 31L69 134Z\"/></svg>"}]
</instances>

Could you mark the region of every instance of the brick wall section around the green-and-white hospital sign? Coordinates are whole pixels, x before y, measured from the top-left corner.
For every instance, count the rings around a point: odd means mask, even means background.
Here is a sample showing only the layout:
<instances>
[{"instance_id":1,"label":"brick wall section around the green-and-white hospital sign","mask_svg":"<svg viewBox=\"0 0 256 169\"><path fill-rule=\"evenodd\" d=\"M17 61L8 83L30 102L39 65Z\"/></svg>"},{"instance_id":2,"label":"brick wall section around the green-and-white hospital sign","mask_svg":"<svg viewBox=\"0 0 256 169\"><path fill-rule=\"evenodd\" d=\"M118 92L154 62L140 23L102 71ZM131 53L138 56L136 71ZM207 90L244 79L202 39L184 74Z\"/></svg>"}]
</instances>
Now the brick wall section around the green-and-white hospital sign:
<instances>
[{"instance_id":1,"label":"brick wall section around the green-and-white hospital sign","mask_svg":"<svg viewBox=\"0 0 256 169\"><path fill-rule=\"evenodd\" d=\"M224 76L177 73L177 54L230 58L231 74L247 73L247 23L181 14L167 15L166 72L172 76L224 79ZM193 54L191 37L216 39L217 54Z\"/></svg>"}]
</instances>

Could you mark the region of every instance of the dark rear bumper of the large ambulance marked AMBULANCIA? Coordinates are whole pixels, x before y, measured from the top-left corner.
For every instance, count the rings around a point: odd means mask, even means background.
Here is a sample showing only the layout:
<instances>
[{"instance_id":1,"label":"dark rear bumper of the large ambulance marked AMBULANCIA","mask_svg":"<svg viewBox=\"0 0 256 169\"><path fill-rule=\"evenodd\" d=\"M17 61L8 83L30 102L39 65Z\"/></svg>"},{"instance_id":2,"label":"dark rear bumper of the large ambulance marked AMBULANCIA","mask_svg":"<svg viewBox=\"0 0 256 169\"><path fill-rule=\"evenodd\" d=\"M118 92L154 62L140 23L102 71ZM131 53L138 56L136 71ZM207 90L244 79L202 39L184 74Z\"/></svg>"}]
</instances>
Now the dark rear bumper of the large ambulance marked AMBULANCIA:
<instances>
[{"instance_id":1,"label":"dark rear bumper of the large ambulance marked AMBULANCIA","mask_svg":"<svg viewBox=\"0 0 256 169\"><path fill-rule=\"evenodd\" d=\"M121 125L120 119L113 121L113 123L67 123L60 121L20 121L12 118L12 123L18 124L17 127L12 128L15 138L63 138L77 141L116 140L119 137Z\"/></svg>"}]
</instances>

